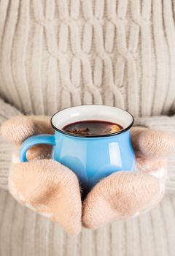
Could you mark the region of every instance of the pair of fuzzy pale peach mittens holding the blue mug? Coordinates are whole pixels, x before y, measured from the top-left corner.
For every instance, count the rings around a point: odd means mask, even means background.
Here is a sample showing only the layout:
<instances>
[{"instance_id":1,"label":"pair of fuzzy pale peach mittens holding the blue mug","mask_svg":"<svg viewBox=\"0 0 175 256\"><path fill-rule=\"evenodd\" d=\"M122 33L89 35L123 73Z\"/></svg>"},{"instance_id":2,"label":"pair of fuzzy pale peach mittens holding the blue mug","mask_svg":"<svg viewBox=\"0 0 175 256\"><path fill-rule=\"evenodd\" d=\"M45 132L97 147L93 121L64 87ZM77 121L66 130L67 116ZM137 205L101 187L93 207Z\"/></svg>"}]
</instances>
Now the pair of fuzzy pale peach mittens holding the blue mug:
<instances>
[{"instance_id":1,"label":"pair of fuzzy pale peach mittens holding the blue mug","mask_svg":"<svg viewBox=\"0 0 175 256\"><path fill-rule=\"evenodd\" d=\"M2 125L1 134L15 145L9 191L23 205L58 222L67 233L79 233L81 225L94 229L136 216L163 197L166 157L175 149L172 135L133 127L136 171L120 171L102 179L82 204L77 176L50 159L50 146L29 149L27 157L32 161L19 162L18 149L23 140L42 133L53 133L50 118L17 116Z\"/></svg>"}]
</instances>

